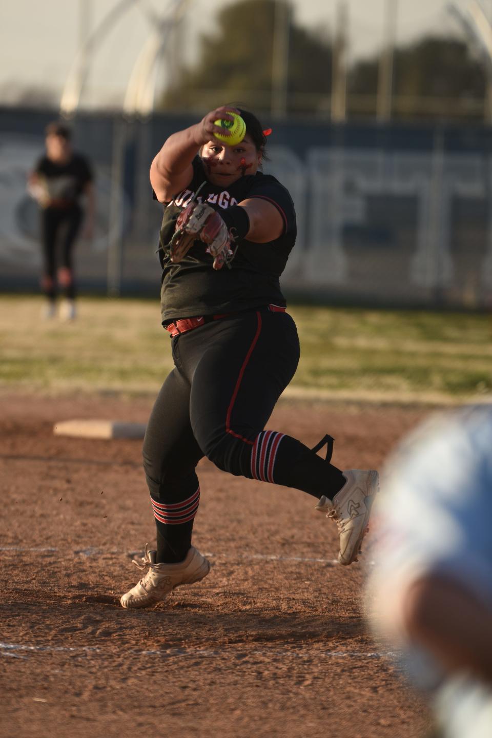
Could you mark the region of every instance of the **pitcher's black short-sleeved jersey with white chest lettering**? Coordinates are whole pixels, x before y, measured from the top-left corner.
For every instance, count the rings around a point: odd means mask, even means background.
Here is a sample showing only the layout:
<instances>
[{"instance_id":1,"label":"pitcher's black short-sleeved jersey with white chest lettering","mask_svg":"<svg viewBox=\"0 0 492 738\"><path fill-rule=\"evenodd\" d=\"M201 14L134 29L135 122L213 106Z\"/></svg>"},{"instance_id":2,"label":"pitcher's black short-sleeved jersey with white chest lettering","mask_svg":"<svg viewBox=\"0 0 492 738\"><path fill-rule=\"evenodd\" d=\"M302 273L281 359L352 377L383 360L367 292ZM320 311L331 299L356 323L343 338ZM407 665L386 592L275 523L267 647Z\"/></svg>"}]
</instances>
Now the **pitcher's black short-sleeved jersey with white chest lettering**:
<instances>
[{"instance_id":1,"label":"pitcher's black short-sleeved jersey with white chest lettering","mask_svg":"<svg viewBox=\"0 0 492 738\"><path fill-rule=\"evenodd\" d=\"M283 233L274 241L255 244L243 239L238 243L230 269L212 268L213 257L207 246L195 241L184 259L173 264L162 246L171 240L176 219L198 187L197 197L220 212L246 198L258 197L271 202L283 218ZM229 313L256 308L269 303L285 306L279 277L296 241L296 214L288 191L274 176L261 172L246 175L224 188L207 180L199 156L193 160L193 179L182 192L164 206L159 255L162 265L161 306L163 323L170 319ZM235 247L235 246L234 246Z\"/></svg>"}]
</instances>

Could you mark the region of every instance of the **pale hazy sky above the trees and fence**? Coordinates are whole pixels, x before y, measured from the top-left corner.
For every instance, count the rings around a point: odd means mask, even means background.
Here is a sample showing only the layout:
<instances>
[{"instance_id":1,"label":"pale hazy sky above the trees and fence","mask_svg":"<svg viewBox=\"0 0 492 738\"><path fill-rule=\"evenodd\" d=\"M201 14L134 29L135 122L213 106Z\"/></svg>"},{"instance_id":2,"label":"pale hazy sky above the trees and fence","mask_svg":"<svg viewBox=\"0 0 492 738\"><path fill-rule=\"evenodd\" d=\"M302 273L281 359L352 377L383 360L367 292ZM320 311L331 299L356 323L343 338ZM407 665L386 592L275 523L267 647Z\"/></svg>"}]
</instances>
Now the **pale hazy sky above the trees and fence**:
<instances>
[{"instance_id":1,"label":"pale hazy sky above the trees and fence","mask_svg":"<svg viewBox=\"0 0 492 738\"><path fill-rule=\"evenodd\" d=\"M139 0L159 14L176 0ZM410 41L425 32L462 35L446 10L447 0L291 0L295 18L308 27L333 31L337 7L347 5L349 60L373 55L384 39L385 9L396 6L396 40ZM458 0L465 7L469 0ZM84 24L94 29L122 0L0 0L0 104L20 98L36 101L49 93L58 104L66 77L83 35ZM213 32L217 10L233 0L188 0L181 24L179 47L193 60L200 32ZM85 11L82 14L81 7ZM492 18L492 0L482 0ZM132 69L150 33L149 21L139 8L128 10L111 28L94 54L81 107L120 106ZM155 25L155 24L154 24ZM167 66L162 81L173 73Z\"/></svg>"}]
</instances>

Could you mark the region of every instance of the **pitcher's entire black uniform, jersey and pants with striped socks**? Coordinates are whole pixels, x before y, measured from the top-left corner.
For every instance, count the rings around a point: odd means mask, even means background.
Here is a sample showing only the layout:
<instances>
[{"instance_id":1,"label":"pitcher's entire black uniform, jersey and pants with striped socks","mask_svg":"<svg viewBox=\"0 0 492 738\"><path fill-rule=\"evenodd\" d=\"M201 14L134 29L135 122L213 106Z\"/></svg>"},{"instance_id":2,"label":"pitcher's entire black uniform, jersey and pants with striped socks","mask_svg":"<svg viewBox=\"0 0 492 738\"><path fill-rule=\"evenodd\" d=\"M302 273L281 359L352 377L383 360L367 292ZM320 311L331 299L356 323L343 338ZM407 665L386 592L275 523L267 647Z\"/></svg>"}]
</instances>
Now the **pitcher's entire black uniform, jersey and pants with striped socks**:
<instances>
[{"instance_id":1,"label":"pitcher's entire black uniform, jersey and pants with striped socks","mask_svg":"<svg viewBox=\"0 0 492 738\"><path fill-rule=\"evenodd\" d=\"M218 210L226 223L238 202L263 198L280 212L283 232L268 243L243 239L230 269L219 271L201 241L179 263L159 251L162 321L176 335L175 368L156 399L143 449L158 563L181 562L190 548L200 499L195 467L204 455L233 475L296 487L316 498L333 497L345 483L339 469L296 439L264 430L299 361L297 329L279 283L296 240L291 196L259 171L228 187L212 184L196 157L192 181L164 206L162 247L203 182L198 201ZM198 327L186 330L179 321L190 317L198 318Z\"/></svg>"}]
</instances>

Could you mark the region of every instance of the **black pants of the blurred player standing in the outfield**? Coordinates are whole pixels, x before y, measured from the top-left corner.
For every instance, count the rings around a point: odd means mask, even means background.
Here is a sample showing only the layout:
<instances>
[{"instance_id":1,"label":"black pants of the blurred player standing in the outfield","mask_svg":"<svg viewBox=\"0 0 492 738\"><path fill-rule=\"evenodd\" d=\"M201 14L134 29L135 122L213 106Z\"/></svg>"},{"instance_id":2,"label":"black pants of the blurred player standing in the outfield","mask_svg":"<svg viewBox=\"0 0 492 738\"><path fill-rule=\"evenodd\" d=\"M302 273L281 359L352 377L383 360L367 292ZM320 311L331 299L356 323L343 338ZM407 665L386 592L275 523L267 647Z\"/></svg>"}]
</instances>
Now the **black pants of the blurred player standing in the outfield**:
<instances>
[{"instance_id":1,"label":"black pants of the blurred player standing in the outfield","mask_svg":"<svg viewBox=\"0 0 492 738\"><path fill-rule=\"evenodd\" d=\"M72 252L82 217L82 209L77 204L72 207L46 207L41 211L44 291L50 300L54 300L57 293L57 266L69 270L71 276L64 285L64 291L69 300L75 297Z\"/></svg>"}]
</instances>

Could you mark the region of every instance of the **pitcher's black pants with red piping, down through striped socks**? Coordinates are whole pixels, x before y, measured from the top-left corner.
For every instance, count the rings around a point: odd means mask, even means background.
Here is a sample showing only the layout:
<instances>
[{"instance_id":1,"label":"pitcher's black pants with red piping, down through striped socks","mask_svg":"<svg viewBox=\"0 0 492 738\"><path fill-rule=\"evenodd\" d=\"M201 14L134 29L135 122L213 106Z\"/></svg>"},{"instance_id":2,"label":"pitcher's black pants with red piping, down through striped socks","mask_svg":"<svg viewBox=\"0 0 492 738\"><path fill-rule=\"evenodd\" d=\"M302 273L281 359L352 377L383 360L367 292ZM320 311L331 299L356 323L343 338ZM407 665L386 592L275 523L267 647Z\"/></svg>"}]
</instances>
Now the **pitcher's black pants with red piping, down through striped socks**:
<instances>
[{"instance_id":1,"label":"pitcher's black pants with red piping, down through striped socks","mask_svg":"<svg viewBox=\"0 0 492 738\"><path fill-rule=\"evenodd\" d=\"M295 487L319 498L342 472L282 432L264 430L299 361L287 313L244 311L172 339L175 368L148 421L144 469L157 528L157 562L191 545L200 501L195 467L207 456L233 475Z\"/></svg>"}]
</instances>

